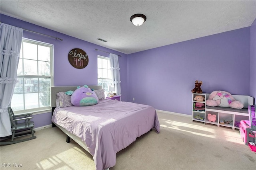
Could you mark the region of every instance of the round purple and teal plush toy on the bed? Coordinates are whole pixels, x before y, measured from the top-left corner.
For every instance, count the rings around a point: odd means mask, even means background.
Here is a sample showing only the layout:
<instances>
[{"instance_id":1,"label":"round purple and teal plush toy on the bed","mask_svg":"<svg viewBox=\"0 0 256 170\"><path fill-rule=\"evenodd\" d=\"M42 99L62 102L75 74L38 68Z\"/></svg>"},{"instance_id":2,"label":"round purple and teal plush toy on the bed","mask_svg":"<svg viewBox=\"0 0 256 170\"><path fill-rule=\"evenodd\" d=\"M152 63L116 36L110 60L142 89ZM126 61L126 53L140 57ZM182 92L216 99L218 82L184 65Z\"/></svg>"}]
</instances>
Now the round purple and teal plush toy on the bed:
<instances>
[{"instance_id":1,"label":"round purple and teal plush toy on the bed","mask_svg":"<svg viewBox=\"0 0 256 170\"><path fill-rule=\"evenodd\" d=\"M74 106L90 106L98 104L99 100L94 93L93 89L88 88L87 85L82 87L77 86L77 89L73 91L66 92L67 95L71 95L70 101Z\"/></svg>"}]
</instances>

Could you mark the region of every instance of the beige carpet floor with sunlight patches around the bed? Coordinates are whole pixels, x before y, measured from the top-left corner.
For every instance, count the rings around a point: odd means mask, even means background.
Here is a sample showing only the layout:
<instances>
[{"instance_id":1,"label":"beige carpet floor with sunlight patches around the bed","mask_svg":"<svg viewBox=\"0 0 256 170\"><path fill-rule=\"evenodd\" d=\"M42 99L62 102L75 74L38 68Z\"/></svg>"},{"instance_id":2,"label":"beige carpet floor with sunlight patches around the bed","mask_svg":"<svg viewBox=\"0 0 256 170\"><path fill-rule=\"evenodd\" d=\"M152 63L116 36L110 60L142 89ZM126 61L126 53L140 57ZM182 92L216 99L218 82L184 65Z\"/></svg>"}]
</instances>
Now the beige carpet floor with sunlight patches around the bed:
<instances>
[{"instance_id":1,"label":"beige carpet floor with sunlight patches around the bed","mask_svg":"<svg viewBox=\"0 0 256 170\"><path fill-rule=\"evenodd\" d=\"M160 134L151 131L117 153L113 170L255 170L256 152L238 130L204 125L190 117L158 112ZM0 147L1 170L93 170L92 156L58 129ZM15 167L21 166L22 167Z\"/></svg>"}]
</instances>

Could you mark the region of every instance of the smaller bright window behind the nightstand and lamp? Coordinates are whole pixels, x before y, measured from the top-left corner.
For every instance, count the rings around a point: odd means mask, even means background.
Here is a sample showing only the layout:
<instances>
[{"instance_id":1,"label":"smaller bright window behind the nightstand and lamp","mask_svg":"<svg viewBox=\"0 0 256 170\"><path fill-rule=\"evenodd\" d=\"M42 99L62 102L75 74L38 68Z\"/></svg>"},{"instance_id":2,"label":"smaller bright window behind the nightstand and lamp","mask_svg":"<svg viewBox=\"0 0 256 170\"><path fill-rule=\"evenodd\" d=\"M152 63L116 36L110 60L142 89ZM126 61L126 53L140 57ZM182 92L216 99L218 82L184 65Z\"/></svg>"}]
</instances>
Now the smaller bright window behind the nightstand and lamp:
<instances>
[{"instance_id":1,"label":"smaller bright window behind the nightstand and lamp","mask_svg":"<svg viewBox=\"0 0 256 170\"><path fill-rule=\"evenodd\" d=\"M108 92L108 87L111 85L111 83L112 76L109 58L98 55L98 85L102 86L105 92Z\"/></svg>"}]
</instances>

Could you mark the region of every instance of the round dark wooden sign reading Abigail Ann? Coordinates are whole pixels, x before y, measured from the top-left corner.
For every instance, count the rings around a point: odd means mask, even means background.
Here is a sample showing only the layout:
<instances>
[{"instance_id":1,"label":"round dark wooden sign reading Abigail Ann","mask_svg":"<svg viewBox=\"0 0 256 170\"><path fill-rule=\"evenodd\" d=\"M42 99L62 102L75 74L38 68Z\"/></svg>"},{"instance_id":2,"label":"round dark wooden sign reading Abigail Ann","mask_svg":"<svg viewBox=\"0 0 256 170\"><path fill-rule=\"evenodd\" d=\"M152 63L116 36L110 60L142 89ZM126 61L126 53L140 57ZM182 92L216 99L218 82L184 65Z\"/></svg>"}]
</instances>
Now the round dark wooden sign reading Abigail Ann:
<instances>
[{"instance_id":1,"label":"round dark wooden sign reading Abigail Ann","mask_svg":"<svg viewBox=\"0 0 256 170\"><path fill-rule=\"evenodd\" d=\"M72 49L68 53L68 61L74 68L84 68L88 65L89 58L82 49Z\"/></svg>"}]
</instances>

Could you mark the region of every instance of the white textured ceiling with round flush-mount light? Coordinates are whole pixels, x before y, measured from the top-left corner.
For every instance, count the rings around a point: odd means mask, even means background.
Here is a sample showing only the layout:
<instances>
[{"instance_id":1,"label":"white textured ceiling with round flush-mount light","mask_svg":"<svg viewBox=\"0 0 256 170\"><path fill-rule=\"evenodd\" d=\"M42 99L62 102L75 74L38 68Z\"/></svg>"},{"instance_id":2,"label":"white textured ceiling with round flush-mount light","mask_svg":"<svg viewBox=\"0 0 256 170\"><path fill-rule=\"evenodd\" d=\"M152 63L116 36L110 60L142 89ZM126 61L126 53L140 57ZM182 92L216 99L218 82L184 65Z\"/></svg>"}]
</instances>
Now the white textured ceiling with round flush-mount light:
<instances>
[{"instance_id":1,"label":"white textured ceiling with round flush-mount light","mask_svg":"<svg viewBox=\"0 0 256 170\"><path fill-rule=\"evenodd\" d=\"M248 27L256 1L1 0L0 12L130 54ZM147 17L141 26L130 21L138 13Z\"/></svg>"}]
</instances>

